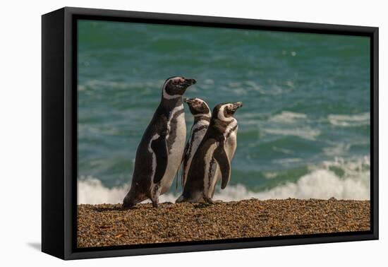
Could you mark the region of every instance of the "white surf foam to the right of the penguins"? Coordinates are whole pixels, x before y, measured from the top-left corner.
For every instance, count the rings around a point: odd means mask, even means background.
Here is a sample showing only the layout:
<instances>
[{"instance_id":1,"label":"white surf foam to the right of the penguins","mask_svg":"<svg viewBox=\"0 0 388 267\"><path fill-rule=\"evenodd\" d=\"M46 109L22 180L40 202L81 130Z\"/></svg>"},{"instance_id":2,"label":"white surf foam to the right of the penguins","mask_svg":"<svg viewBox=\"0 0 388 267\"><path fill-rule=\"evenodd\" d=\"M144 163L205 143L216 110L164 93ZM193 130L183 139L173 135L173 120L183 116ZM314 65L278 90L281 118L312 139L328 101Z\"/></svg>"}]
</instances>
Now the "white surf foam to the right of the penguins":
<instances>
[{"instance_id":1,"label":"white surf foam to the right of the penguins","mask_svg":"<svg viewBox=\"0 0 388 267\"><path fill-rule=\"evenodd\" d=\"M334 168L341 170L339 176ZM274 176L274 174L272 174ZM287 182L272 189L253 192L238 184L228 186L215 194L214 199L236 201L247 198L337 198L337 199L370 199L370 158L334 161L310 167L310 172L303 175L295 183Z\"/></svg>"}]
</instances>

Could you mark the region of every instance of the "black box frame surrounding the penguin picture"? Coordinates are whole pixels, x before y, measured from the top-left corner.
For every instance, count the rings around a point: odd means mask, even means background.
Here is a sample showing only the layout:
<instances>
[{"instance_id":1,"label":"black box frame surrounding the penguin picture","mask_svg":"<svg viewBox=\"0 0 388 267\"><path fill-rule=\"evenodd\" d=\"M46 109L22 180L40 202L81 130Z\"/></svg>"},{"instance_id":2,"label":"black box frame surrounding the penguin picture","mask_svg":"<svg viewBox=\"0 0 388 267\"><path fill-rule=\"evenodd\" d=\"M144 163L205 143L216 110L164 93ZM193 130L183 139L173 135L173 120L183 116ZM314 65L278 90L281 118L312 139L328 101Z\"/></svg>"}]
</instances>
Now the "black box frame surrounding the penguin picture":
<instances>
[{"instance_id":1,"label":"black box frame surrounding the penguin picture","mask_svg":"<svg viewBox=\"0 0 388 267\"><path fill-rule=\"evenodd\" d=\"M216 241L76 247L78 19L370 37L370 231ZM42 16L42 251L61 259L164 254L378 239L378 28L65 7Z\"/></svg>"}]
</instances>

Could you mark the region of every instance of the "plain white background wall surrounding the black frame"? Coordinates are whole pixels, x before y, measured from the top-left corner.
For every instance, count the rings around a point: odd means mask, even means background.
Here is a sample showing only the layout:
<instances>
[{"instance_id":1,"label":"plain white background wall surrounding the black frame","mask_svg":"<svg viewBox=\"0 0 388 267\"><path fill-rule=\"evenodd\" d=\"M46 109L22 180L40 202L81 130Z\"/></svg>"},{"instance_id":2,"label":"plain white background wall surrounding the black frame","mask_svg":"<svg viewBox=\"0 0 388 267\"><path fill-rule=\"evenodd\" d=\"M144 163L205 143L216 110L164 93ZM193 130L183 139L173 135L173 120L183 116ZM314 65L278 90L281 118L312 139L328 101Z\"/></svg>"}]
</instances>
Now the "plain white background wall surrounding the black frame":
<instances>
[{"instance_id":1,"label":"plain white background wall surrounding the black frame","mask_svg":"<svg viewBox=\"0 0 388 267\"><path fill-rule=\"evenodd\" d=\"M387 47L384 1L3 1L0 75L0 262L43 266L368 266L387 263ZM261 2L261 3L260 3ZM244 249L64 262L42 254L40 244L40 16L63 6L262 18L380 27L380 241ZM385 100L385 101L384 101ZM385 163L385 164L384 164ZM384 166L385 165L385 166ZM384 196L385 195L385 196ZM19 265L19 264L17 264ZM377 264L382 266L382 264Z\"/></svg>"}]
</instances>

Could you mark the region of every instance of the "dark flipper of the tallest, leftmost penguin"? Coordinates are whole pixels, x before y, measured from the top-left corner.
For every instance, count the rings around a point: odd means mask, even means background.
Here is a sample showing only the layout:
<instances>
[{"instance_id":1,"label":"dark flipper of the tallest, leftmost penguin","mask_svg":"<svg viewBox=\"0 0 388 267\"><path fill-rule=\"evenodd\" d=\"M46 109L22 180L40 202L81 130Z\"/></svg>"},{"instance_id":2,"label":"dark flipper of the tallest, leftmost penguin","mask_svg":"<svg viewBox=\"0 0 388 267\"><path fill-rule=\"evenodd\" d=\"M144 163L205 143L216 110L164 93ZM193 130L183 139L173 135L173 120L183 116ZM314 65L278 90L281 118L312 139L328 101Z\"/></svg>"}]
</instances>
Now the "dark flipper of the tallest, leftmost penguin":
<instances>
[{"instance_id":1,"label":"dark flipper of the tallest, leftmost penguin","mask_svg":"<svg viewBox=\"0 0 388 267\"><path fill-rule=\"evenodd\" d=\"M154 174L154 184L160 182L166 172L169 153L165 136L159 136L151 143L151 148L154 150L157 159L157 166Z\"/></svg>"}]
</instances>

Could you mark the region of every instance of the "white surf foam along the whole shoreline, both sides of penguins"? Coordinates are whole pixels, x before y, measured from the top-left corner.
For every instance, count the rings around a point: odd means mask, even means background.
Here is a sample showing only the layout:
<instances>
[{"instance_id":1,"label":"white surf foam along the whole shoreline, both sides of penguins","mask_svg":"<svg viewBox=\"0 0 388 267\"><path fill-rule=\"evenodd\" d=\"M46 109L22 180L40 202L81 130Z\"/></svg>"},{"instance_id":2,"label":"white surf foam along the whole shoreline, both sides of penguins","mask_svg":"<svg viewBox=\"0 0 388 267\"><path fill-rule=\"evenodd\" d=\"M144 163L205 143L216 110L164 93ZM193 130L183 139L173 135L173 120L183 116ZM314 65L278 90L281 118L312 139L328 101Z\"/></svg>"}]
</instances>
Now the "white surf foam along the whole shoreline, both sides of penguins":
<instances>
[{"instance_id":1,"label":"white surf foam along the whole shoreline, both sides of penguins","mask_svg":"<svg viewBox=\"0 0 388 267\"><path fill-rule=\"evenodd\" d=\"M342 174L337 174L335 169ZM275 174L272 173L272 176ZM233 177L232 177L233 179ZM128 192L125 186L107 188L99 179L80 177L78 180L78 203L121 203ZM214 200L238 201L248 198L337 198L370 199L370 159L368 157L346 161L337 158L331 162L322 162L310 167L310 172L296 182L286 182L266 191L254 192L242 184L227 186L216 191ZM160 202L174 202L178 194L164 194ZM145 201L146 202L146 201Z\"/></svg>"}]
</instances>

